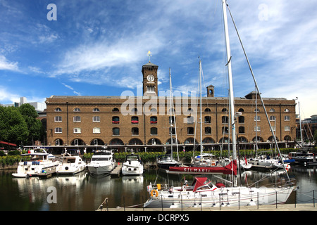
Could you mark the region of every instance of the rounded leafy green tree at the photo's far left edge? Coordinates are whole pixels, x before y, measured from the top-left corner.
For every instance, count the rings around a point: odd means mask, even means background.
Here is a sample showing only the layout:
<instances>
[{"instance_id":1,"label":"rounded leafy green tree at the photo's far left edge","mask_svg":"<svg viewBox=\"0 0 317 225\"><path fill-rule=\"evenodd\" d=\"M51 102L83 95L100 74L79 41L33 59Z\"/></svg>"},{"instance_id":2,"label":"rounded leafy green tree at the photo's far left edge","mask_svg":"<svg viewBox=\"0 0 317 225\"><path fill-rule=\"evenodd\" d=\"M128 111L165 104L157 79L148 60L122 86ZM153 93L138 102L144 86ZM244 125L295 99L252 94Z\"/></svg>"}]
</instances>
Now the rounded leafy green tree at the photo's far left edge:
<instances>
[{"instance_id":1,"label":"rounded leafy green tree at the photo's far left edge","mask_svg":"<svg viewBox=\"0 0 317 225\"><path fill-rule=\"evenodd\" d=\"M0 140L20 145L28 135L27 123L18 108L0 106Z\"/></svg>"}]
</instances>

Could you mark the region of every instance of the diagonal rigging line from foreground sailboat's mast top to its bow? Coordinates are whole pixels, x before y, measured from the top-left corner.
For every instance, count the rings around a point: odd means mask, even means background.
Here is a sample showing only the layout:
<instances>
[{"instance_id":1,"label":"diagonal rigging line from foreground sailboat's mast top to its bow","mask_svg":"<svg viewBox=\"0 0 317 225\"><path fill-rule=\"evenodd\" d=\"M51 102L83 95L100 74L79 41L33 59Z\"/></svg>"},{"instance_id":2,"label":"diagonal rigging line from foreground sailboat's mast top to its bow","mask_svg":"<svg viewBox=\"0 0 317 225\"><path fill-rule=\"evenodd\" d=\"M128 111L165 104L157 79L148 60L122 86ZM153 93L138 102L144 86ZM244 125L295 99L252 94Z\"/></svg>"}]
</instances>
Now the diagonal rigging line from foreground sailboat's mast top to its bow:
<instances>
[{"instance_id":1,"label":"diagonal rigging line from foreground sailboat's mast top to its bow","mask_svg":"<svg viewBox=\"0 0 317 225\"><path fill-rule=\"evenodd\" d=\"M246 51L244 50L244 46L243 46L243 44L242 44L242 40L241 40L241 38L240 38L240 34L239 34L238 30L237 30L237 26L235 25L235 20L233 20L233 17L232 17L232 14L231 14L231 11L230 11L230 8L229 8L229 5L228 5L228 4L227 4L227 7L228 7L228 11L229 11L229 13L230 13L230 17L231 17L231 19L232 19L232 23L233 23L233 25L235 26L235 31L237 32L237 36L238 36L238 38L239 38L239 40L240 40L240 44L241 44L241 46L242 46L242 50L243 50L243 52L244 52L244 56L245 56L245 58L246 58L246 60L247 60L247 63L248 63L248 65L249 65L249 70L251 71L251 75L252 75L252 77L253 77L253 79L254 79L254 84L256 85L257 91L258 91L259 93L261 93L261 91L259 90L259 86L258 86L258 84L257 84L257 82L256 82L256 79L255 79L255 77L254 77L254 73L253 73L253 70L252 70L252 68L251 68L251 64L250 64L250 62L249 62L249 58L247 57L247 53L246 53ZM272 132L272 136L273 136L273 139L274 139L274 141L275 141L275 145L276 145L277 148L278 148L278 153L281 155L281 153L280 153L280 147L278 147L278 141L276 140L276 137L275 137L275 135L274 135L274 132L273 132L273 129L272 129L270 120L268 119L268 113L266 112L266 107L265 107L265 105L264 105L264 103L263 103L263 99L262 99L261 95L259 95L259 96L260 96L260 99L261 99L261 103L262 103L262 106L263 106L263 110L264 110L264 112L266 113L266 119L268 120L268 125L270 126L270 129L271 129L271 132ZM283 165L283 167L284 167L284 169L285 169L285 172L286 172L286 174L287 174L287 170L286 170L286 168L285 168L285 164L284 164L283 160L282 160L282 165ZM290 176L288 176L288 174L287 174L287 179L290 181Z\"/></svg>"}]
</instances>

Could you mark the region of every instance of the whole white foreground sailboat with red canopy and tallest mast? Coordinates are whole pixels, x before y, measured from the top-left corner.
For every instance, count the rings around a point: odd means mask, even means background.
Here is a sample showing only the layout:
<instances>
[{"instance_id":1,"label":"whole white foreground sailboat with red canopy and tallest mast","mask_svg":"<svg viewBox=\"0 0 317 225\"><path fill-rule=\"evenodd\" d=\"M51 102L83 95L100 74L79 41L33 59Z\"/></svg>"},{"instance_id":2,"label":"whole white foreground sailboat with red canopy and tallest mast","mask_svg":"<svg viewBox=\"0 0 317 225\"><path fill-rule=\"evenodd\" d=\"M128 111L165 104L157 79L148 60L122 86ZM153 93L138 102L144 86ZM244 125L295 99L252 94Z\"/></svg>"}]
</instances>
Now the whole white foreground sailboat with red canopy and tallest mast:
<instances>
[{"instance_id":1,"label":"whole white foreground sailboat with red canopy and tallest mast","mask_svg":"<svg viewBox=\"0 0 317 225\"><path fill-rule=\"evenodd\" d=\"M223 6L223 20L225 25L225 43L227 50L227 66L228 66L228 81L230 89L230 125L232 129L232 161L230 166L227 167L231 172L232 180L229 186L225 184L213 184L207 177L195 177L191 186L187 186L187 182L182 186L170 187L169 189L161 189L161 185L147 186L147 190L150 193L150 198L144 203L144 207L195 207L197 204L201 207L213 207L213 206L242 206L242 205L255 205L255 201L259 205L269 205L275 203L285 203L287 198L294 190L294 186L288 182L284 186L261 186L259 188L238 186L237 185L237 149L236 149L236 132L235 132L235 107L233 103L233 89L232 89L232 70L231 70L231 56L230 56L230 44L228 36L228 19L227 19L227 3L222 0ZM229 9L229 7L228 7ZM230 9L229 9L230 11ZM232 19L233 21L233 19ZM233 21L234 23L234 21ZM235 23L234 23L235 24ZM237 28L236 28L237 29ZM239 35L238 35L239 36ZM241 40L240 40L241 42ZM242 44L242 43L241 43ZM243 46L242 46L243 48ZM244 52L245 53L245 52ZM248 64L249 64L249 60ZM249 64L251 70L251 65ZM251 70L252 71L252 70ZM251 72L254 78L253 72ZM254 78L254 82L256 80ZM256 84L256 88L259 87ZM263 101L262 101L263 104ZM264 105L263 105L264 108ZM264 108L265 110L265 108ZM267 118L268 119L268 118ZM269 120L268 120L269 121ZM271 127L271 124L270 124ZM271 129L272 131L272 129ZM276 143L275 136L274 140ZM280 149L278 148L280 152ZM219 171L217 167L211 168L215 172L223 173Z\"/></svg>"}]
</instances>

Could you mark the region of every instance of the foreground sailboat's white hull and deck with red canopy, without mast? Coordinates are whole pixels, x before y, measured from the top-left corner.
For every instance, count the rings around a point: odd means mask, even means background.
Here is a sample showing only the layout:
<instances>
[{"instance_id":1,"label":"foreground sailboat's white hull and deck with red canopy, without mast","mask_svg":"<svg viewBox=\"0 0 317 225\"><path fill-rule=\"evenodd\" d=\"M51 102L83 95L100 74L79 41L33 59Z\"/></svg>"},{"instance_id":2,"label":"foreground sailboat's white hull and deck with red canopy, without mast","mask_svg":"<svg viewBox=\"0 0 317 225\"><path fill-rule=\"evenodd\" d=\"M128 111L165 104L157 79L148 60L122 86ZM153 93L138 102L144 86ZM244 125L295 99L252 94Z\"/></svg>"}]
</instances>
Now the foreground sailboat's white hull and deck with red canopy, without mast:
<instances>
[{"instance_id":1,"label":"foreground sailboat's white hull and deck with red canopy, without mast","mask_svg":"<svg viewBox=\"0 0 317 225\"><path fill-rule=\"evenodd\" d=\"M182 186L172 186L170 188L161 184L156 186L150 184L147 186L147 190L151 197L144 203L144 207L180 208L285 203L294 187L225 187L222 183L211 183L207 177L195 177L192 185L188 185L187 181Z\"/></svg>"}]
</instances>

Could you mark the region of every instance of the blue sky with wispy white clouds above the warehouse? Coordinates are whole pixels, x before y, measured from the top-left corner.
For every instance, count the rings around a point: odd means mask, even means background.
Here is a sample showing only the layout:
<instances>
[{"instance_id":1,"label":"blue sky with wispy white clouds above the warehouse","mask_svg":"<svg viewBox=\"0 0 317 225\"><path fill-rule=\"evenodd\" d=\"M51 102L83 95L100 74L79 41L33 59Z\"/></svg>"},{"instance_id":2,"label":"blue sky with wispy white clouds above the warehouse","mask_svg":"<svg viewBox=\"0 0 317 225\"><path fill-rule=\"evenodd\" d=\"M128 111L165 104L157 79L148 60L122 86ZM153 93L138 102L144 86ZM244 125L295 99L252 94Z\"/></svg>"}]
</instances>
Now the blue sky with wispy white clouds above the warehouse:
<instances>
[{"instance_id":1,"label":"blue sky with wispy white clouds above the warehouse","mask_svg":"<svg viewBox=\"0 0 317 225\"><path fill-rule=\"evenodd\" d=\"M316 115L317 1L228 6L262 97L298 98L302 117ZM159 65L159 91L169 89L169 68L173 91L198 91L199 58L203 85L228 96L222 14L220 0L0 0L0 103L139 96L149 60ZM244 97L254 82L228 25L234 95Z\"/></svg>"}]
</instances>

